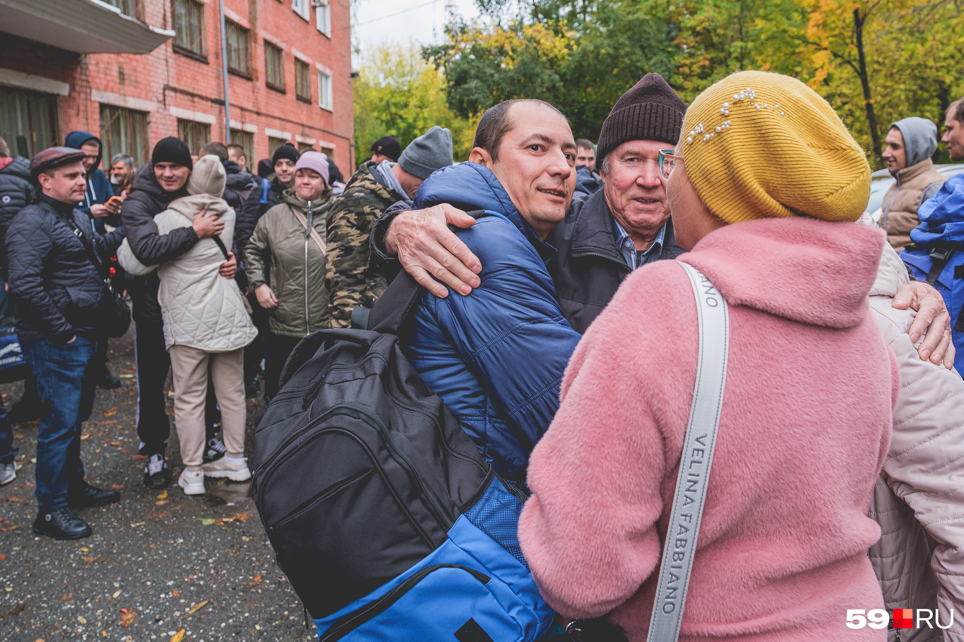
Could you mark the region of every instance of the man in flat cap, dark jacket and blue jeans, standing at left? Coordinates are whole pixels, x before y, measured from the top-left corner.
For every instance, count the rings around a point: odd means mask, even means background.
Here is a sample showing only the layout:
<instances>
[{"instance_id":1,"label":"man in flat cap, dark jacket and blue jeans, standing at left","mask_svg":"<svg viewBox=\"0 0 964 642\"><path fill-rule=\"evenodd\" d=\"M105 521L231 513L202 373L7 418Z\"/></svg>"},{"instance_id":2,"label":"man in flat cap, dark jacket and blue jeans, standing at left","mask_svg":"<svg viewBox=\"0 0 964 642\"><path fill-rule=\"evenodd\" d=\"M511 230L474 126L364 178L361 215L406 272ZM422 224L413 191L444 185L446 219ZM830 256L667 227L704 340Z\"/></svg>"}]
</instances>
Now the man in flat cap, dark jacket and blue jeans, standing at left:
<instances>
[{"instance_id":1,"label":"man in flat cap, dark jacket and blue jeans, standing at left","mask_svg":"<svg viewBox=\"0 0 964 642\"><path fill-rule=\"evenodd\" d=\"M89 187L85 156L69 147L34 156L37 202L13 218L5 239L17 338L46 410L37 436L34 532L56 539L93 532L70 508L120 501L116 491L84 480L80 459L80 424L94 407L94 382L86 371L104 339L100 322L111 305L93 260L106 261L123 241L122 228L92 232L90 218L77 207Z\"/></svg>"}]
</instances>

